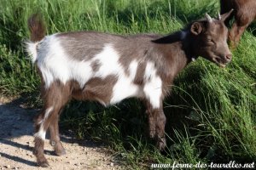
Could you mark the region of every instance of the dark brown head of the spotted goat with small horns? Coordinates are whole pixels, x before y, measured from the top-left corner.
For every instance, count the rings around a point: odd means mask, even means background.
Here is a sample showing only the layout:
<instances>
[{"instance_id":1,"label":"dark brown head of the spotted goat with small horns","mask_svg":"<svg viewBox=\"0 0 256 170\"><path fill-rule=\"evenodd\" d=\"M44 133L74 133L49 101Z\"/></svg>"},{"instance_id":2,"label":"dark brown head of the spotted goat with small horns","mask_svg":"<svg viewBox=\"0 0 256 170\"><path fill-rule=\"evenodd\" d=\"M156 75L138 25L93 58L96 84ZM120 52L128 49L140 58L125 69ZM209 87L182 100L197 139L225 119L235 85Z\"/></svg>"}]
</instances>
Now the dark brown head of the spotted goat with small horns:
<instances>
[{"instance_id":1,"label":"dark brown head of the spotted goat with small horns","mask_svg":"<svg viewBox=\"0 0 256 170\"><path fill-rule=\"evenodd\" d=\"M228 28L224 25L224 20L231 12L232 10L219 15L218 19L212 19L206 14L206 19L195 21L190 25L193 54L209 59L221 67L230 63L232 55L227 43Z\"/></svg>"}]
</instances>

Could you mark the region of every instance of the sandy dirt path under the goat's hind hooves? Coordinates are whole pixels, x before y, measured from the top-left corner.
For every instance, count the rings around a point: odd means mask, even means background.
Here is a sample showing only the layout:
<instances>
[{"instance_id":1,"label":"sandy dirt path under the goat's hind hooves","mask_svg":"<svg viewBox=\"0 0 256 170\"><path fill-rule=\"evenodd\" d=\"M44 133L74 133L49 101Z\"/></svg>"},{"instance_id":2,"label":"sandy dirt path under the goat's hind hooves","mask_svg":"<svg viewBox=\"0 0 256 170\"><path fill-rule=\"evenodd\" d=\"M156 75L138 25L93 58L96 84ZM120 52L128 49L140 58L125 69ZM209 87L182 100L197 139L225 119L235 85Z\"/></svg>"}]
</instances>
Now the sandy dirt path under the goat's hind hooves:
<instances>
[{"instance_id":1,"label":"sandy dirt path under the goat's hind hooves","mask_svg":"<svg viewBox=\"0 0 256 170\"><path fill-rule=\"evenodd\" d=\"M0 169L122 169L104 147L90 141L81 143L72 134L61 136L65 156L55 156L46 140L44 150L51 167L37 167L32 155L32 117L36 113L23 109L19 102L0 99Z\"/></svg>"}]
</instances>

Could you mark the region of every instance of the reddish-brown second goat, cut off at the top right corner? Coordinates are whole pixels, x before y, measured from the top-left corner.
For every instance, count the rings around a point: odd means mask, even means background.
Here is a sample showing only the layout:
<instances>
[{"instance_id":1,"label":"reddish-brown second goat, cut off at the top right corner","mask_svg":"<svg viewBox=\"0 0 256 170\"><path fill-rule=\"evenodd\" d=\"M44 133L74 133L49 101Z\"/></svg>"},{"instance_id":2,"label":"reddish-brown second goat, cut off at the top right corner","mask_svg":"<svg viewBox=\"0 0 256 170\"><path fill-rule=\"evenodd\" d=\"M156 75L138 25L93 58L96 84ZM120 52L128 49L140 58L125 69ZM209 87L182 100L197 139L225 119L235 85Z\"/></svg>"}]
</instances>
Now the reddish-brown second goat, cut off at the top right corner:
<instances>
[{"instance_id":1,"label":"reddish-brown second goat, cut off at the top right corner","mask_svg":"<svg viewBox=\"0 0 256 170\"><path fill-rule=\"evenodd\" d=\"M256 1L255 0L220 0L220 13L224 14L234 8L234 12L225 20L226 26L235 16L235 22L232 25L229 34L231 48L236 48L240 41L242 33L246 30L253 20L256 20Z\"/></svg>"}]
</instances>

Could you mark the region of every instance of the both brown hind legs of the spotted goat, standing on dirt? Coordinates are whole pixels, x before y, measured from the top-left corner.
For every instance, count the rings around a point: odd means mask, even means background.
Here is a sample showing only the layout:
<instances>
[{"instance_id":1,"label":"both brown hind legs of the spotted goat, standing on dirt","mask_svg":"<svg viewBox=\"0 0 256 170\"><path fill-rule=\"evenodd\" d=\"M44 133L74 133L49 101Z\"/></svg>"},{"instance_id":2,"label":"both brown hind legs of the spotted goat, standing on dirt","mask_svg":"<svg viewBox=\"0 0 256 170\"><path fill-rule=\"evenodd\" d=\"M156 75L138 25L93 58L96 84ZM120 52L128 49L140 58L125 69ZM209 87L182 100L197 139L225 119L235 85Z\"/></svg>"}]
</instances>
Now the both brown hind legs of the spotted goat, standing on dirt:
<instances>
[{"instance_id":1,"label":"both brown hind legs of the spotted goat, standing on dirt","mask_svg":"<svg viewBox=\"0 0 256 170\"><path fill-rule=\"evenodd\" d=\"M67 87L68 88L68 87ZM55 153L63 155L64 148L61 145L58 131L58 116L61 108L67 104L69 91L61 83L54 83L44 93L44 110L35 121L35 147L34 155L37 157L38 166L48 167L49 163L44 156L45 133L50 127L52 141L55 141Z\"/></svg>"}]
</instances>

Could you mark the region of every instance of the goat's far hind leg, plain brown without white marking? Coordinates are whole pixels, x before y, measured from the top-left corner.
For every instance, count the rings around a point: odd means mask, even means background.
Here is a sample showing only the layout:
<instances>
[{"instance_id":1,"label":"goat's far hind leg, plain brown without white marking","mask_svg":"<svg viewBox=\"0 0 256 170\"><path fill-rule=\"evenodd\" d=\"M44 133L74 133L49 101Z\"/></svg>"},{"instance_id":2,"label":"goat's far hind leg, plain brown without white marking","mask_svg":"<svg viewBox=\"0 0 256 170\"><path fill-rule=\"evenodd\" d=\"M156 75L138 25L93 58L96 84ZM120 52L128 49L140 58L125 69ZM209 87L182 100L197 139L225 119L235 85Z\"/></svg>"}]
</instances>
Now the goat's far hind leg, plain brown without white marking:
<instances>
[{"instance_id":1,"label":"goat's far hind leg, plain brown without white marking","mask_svg":"<svg viewBox=\"0 0 256 170\"><path fill-rule=\"evenodd\" d=\"M55 154L57 156L63 156L66 154L66 150L63 148L61 144L60 134L59 134L59 114L56 114L56 118L53 119L52 124L49 126L49 144L51 144L55 149Z\"/></svg>"}]
</instances>

